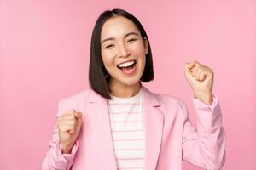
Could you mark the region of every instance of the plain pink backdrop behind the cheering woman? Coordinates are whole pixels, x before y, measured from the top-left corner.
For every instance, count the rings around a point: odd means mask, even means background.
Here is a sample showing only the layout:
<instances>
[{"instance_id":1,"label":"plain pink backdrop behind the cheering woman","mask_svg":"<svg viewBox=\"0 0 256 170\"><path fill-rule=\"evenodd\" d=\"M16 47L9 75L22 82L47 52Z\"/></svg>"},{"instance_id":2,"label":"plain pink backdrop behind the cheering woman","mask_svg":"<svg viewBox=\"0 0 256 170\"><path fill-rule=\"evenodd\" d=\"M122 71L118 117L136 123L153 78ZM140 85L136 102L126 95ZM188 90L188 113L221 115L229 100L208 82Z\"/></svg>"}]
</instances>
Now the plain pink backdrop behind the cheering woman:
<instances>
[{"instance_id":1,"label":"plain pink backdrop behind the cheering woman","mask_svg":"<svg viewBox=\"0 0 256 170\"><path fill-rule=\"evenodd\" d=\"M40 168L59 99L89 87L91 31L98 14L112 8L130 11L148 32L155 79L145 86L183 99L193 122L183 64L197 59L212 68L227 138L223 169L256 169L256 1L0 4L0 169Z\"/></svg>"}]
</instances>

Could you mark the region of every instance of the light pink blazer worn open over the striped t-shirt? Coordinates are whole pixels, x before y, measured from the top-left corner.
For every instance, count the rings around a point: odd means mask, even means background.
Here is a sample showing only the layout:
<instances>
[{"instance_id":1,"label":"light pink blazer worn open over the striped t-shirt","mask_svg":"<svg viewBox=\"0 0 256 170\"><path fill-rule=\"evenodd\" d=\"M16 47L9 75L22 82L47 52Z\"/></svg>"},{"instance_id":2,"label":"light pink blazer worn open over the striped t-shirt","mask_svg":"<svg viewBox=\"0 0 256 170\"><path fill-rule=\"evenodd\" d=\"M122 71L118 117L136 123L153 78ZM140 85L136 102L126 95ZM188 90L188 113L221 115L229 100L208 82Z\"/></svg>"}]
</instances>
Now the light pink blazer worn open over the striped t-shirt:
<instances>
[{"instance_id":1,"label":"light pink blazer worn open over the striped t-shirt","mask_svg":"<svg viewBox=\"0 0 256 170\"><path fill-rule=\"evenodd\" d=\"M142 86L146 142L145 170L181 170L182 160L205 169L220 169L225 160L225 138L218 97L212 105L193 99L196 127L181 99L154 94ZM57 116L75 109L83 125L72 154L59 149L57 128L42 162L42 170L116 170L107 99L88 89L61 99Z\"/></svg>"}]
</instances>

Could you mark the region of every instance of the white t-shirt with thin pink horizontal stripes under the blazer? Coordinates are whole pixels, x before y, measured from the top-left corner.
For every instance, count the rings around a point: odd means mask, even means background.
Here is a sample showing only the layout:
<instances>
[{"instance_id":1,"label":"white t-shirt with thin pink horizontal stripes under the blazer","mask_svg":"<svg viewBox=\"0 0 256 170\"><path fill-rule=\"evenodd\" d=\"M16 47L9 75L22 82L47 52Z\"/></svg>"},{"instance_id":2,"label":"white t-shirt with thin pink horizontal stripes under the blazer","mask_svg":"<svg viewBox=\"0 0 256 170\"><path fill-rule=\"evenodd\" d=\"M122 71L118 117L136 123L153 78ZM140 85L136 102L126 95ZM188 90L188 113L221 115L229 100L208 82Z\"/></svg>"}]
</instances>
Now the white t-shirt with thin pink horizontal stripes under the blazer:
<instances>
[{"instance_id":1,"label":"white t-shirt with thin pink horizontal stripes under the blazer","mask_svg":"<svg viewBox=\"0 0 256 170\"><path fill-rule=\"evenodd\" d=\"M145 135L141 91L131 98L111 97L108 111L117 167L119 170L143 170Z\"/></svg>"}]
</instances>

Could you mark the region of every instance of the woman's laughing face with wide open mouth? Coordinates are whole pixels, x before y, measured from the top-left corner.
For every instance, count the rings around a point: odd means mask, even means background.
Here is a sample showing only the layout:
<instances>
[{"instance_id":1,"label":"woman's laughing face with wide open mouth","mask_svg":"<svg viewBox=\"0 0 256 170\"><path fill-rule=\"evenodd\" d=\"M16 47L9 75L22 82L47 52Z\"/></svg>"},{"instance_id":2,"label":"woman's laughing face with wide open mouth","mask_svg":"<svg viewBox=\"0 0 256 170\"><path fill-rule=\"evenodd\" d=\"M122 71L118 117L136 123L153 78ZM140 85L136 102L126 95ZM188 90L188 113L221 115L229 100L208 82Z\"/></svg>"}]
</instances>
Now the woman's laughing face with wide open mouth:
<instances>
[{"instance_id":1,"label":"woman's laughing face with wide open mouth","mask_svg":"<svg viewBox=\"0 0 256 170\"><path fill-rule=\"evenodd\" d=\"M103 65L112 85L137 84L148 54L148 41L137 26L122 16L110 18L102 26L101 44Z\"/></svg>"}]
</instances>

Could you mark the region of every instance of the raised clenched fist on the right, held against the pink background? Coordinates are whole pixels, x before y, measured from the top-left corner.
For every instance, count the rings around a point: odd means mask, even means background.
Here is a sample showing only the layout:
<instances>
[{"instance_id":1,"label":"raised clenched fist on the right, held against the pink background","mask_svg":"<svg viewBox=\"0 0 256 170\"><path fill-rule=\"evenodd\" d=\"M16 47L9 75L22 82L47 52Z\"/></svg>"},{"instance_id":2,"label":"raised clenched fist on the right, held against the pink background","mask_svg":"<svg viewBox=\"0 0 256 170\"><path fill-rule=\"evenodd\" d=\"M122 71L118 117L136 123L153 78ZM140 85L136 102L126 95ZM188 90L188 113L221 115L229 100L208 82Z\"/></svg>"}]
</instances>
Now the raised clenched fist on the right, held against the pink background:
<instances>
[{"instance_id":1,"label":"raised clenched fist on the right, held against the pink background","mask_svg":"<svg viewBox=\"0 0 256 170\"><path fill-rule=\"evenodd\" d=\"M193 90L196 99L207 105L212 104L213 71L198 61L186 63L184 66L185 77Z\"/></svg>"}]
</instances>

